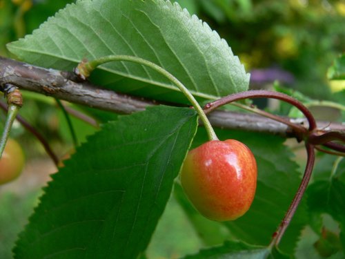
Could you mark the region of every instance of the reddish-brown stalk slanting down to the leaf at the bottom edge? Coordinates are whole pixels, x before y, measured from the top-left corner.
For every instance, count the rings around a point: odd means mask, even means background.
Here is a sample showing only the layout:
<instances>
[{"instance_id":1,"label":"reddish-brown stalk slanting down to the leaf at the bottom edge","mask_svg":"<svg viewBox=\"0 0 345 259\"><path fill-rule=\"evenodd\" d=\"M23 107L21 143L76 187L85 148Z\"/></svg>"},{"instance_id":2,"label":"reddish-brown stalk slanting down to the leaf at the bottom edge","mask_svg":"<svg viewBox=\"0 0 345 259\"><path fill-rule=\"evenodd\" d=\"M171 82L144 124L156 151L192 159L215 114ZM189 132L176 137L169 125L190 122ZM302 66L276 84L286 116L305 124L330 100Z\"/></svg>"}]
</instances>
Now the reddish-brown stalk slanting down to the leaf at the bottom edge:
<instances>
[{"instance_id":1,"label":"reddish-brown stalk slanting down to the leaf at the bottom edge","mask_svg":"<svg viewBox=\"0 0 345 259\"><path fill-rule=\"evenodd\" d=\"M309 180L311 180L311 174L313 172L313 167L314 167L314 162L315 162L314 146L312 144L306 143L306 151L308 154L308 158L306 161L306 169L304 170L302 182L301 184L299 184L297 193L295 194L295 197L293 198L293 202L291 202L290 207L288 208L288 211L286 212L277 231L273 233L273 239L271 240L270 246L269 246L270 248L272 248L273 246L276 246L276 247L278 246L280 240L282 239L282 236L284 235L288 225L290 224L291 219L293 218L293 215L295 214L297 210L299 202L301 202L302 200L304 192L306 191L306 187L308 186L308 182Z\"/></svg>"}]
</instances>

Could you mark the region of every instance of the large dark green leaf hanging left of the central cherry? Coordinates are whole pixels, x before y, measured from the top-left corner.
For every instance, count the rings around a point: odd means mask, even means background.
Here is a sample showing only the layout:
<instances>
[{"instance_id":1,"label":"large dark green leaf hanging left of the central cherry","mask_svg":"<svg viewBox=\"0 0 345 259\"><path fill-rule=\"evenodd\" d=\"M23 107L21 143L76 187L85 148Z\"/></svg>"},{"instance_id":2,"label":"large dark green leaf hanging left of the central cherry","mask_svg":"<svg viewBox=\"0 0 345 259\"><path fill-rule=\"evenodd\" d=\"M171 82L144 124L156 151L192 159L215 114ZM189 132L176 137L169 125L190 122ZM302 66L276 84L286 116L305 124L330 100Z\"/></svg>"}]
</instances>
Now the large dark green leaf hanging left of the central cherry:
<instances>
[{"instance_id":1,"label":"large dark green leaf hanging left of the central cherry","mask_svg":"<svg viewBox=\"0 0 345 259\"><path fill-rule=\"evenodd\" d=\"M105 124L52 175L15 258L137 258L196 127L195 111L166 106Z\"/></svg>"}]
</instances>

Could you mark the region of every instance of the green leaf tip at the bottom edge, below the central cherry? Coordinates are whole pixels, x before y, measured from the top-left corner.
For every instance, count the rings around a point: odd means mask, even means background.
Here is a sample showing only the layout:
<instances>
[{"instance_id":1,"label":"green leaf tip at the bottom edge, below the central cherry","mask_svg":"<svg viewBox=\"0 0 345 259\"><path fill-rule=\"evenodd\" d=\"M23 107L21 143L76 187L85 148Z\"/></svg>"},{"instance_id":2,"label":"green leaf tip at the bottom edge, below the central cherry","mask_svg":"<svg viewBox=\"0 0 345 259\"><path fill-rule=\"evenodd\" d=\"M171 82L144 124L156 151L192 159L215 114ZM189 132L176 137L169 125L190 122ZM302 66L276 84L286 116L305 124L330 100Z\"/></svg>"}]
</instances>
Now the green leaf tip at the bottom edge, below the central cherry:
<instances>
[{"instance_id":1,"label":"green leaf tip at the bottom edge, below the central cherry","mask_svg":"<svg viewBox=\"0 0 345 259\"><path fill-rule=\"evenodd\" d=\"M270 251L268 247L257 247L244 242L227 241L222 246L201 250L193 256L186 256L184 259L278 259L289 258L277 249Z\"/></svg>"}]
</instances>

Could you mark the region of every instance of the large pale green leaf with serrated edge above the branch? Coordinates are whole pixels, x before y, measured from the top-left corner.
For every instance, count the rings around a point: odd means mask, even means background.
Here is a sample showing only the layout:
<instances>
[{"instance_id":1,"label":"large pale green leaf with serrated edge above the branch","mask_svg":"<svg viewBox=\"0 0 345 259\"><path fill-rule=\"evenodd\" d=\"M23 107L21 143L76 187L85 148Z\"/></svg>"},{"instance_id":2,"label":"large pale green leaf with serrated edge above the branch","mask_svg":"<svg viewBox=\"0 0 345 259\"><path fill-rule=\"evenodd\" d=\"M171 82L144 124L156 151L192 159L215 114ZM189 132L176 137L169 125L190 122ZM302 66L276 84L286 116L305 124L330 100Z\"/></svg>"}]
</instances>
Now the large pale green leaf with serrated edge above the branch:
<instances>
[{"instance_id":1,"label":"large pale green leaf with serrated edge above the branch","mask_svg":"<svg viewBox=\"0 0 345 259\"><path fill-rule=\"evenodd\" d=\"M248 88L249 75L226 41L164 0L77 1L8 49L28 63L60 70L72 70L85 58L134 55L165 68L206 99ZM170 81L138 64L105 64L90 79L132 95L186 102Z\"/></svg>"}]
</instances>

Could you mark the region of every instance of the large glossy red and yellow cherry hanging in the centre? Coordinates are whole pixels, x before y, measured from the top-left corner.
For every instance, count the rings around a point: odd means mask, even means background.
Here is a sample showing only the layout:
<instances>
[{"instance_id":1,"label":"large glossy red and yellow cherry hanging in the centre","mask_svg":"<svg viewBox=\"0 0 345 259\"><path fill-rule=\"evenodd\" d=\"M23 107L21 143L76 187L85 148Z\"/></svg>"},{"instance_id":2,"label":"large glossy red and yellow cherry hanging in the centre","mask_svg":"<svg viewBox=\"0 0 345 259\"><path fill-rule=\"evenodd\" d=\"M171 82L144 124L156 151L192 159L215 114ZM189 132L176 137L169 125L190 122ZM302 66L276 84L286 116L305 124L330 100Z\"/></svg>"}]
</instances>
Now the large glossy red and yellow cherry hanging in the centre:
<instances>
[{"instance_id":1,"label":"large glossy red and yellow cherry hanging in the centre","mask_svg":"<svg viewBox=\"0 0 345 259\"><path fill-rule=\"evenodd\" d=\"M181 185L195 209L210 220L235 220L250 208L257 164L237 140L212 140L188 152Z\"/></svg>"}]
</instances>

